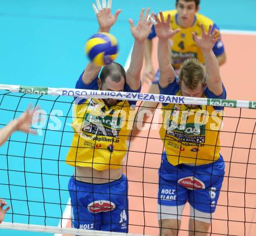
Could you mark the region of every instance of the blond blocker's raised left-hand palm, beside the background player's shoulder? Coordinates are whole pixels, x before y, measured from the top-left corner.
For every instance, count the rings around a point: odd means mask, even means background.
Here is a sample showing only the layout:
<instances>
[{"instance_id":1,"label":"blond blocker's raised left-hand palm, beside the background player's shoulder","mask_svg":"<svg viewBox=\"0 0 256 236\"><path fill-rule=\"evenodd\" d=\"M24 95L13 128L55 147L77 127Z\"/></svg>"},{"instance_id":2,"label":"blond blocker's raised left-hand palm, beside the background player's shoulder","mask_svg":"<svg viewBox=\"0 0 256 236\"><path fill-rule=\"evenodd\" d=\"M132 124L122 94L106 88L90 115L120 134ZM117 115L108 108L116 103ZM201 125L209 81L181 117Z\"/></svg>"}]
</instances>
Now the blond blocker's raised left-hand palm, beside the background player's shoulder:
<instances>
[{"instance_id":1,"label":"blond blocker's raised left-hand palm, beside the background player's shoulder","mask_svg":"<svg viewBox=\"0 0 256 236\"><path fill-rule=\"evenodd\" d=\"M159 39L168 39L172 38L173 35L177 34L180 29L172 30L170 26L170 15L168 15L167 20L163 18L163 13L159 12L160 19L157 15L154 15L157 24L155 24L155 33L157 33L157 37Z\"/></svg>"}]
</instances>

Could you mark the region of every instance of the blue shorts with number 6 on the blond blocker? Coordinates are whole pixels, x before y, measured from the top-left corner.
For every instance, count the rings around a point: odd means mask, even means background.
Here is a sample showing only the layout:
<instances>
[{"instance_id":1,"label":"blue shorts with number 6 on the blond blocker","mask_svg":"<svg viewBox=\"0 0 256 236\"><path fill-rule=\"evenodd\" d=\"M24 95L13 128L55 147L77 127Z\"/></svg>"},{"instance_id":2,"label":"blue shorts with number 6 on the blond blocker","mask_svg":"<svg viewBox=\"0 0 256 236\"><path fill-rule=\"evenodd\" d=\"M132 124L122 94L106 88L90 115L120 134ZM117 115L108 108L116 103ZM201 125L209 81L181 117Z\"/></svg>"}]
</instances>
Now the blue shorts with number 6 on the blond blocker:
<instances>
[{"instance_id":1,"label":"blue shorts with number 6 on the blond blocker","mask_svg":"<svg viewBox=\"0 0 256 236\"><path fill-rule=\"evenodd\" d=\"M194 209L214 213L225 174L222 156L201 166L171 165L163 152L159 173L158 204L181 206L189 201Z\"/></svg>"}]
</instances>

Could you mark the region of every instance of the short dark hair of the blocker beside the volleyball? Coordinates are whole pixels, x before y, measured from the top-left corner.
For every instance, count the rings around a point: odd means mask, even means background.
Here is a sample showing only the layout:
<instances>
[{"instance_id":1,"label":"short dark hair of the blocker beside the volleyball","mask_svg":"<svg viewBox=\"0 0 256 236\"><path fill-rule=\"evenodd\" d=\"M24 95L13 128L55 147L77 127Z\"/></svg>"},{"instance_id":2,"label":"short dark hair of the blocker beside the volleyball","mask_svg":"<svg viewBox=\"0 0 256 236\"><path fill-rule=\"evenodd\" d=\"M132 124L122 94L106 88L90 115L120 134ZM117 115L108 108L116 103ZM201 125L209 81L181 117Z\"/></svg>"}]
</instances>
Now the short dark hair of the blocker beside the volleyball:
<instances>
[{"instance_id":1,"label":"short dark hair of the blocker beside the volleyball","mask_svg":"<svg viewBox=\"0 0 256 236\"><path fill-rule=\"evenodd\" d=\"M101 83L104 84L106 77L111 76L111 79L115 82L119 82L122 77L126 78L125 69L119 63L112 62L103 67L99 76Z\"/></svg>"}]
</instances>

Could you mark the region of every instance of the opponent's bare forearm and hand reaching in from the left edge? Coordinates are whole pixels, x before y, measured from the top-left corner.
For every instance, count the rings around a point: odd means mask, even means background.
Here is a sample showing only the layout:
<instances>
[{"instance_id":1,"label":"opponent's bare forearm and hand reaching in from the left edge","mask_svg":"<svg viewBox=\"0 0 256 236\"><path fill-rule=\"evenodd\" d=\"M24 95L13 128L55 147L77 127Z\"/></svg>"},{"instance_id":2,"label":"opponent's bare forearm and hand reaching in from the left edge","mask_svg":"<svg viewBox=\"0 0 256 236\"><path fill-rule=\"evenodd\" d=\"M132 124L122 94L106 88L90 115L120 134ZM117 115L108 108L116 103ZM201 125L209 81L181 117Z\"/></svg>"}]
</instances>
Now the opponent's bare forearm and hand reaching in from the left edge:
<instances>
[{"instance_id":1,"label":"opponent's bare forearm and hand reaching in from the left edge","mask_svg":"<svg viewBox=\"0 0 256 236\"><path fill-rule=\"evenodd\" d=\"M3 145L9 136L17 130L30 134L37 134L37 131L30 128L32 123L37 122L37 120L34 120L33 122L33 115L37 110L38 108L28 108L19 118L10 121L7 126L3 127L0 130L0 146Z\"/></svg>"}]
</instances>

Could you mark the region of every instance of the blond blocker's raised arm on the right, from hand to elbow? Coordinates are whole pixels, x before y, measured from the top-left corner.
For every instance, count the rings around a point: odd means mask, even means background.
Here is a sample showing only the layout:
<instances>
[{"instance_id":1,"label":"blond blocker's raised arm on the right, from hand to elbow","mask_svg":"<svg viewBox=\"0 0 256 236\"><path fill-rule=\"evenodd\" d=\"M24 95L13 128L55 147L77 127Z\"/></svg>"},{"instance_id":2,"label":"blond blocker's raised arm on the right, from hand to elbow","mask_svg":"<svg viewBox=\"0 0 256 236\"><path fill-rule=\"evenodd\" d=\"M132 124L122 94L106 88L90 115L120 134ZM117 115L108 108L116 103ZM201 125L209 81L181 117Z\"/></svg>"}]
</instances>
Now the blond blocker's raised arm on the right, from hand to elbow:
<instances>
[{"instance_id":1,"label":"blond blocker's raised arm on the right, from hand to elbow","mask_svg":"<svg viewBox=\"0 0 256 236\"><path fill-rule=\"evenodd\" d=\"M216 38L218 33L212 32L212 26L209 26L208 33L205 32L204 26L201 24L201 37L197 37L195 33L193 33L193 38L197 43L198 47L201 48L202 53L205 59L205 67L207 73L207 86L211 92L213 92L216 96L219 96L223 92L222 88L222 80L221 74L219 71L219 62L212 48L215 43L221 40L220 37Z\"/></svg>"}]
</instances>

